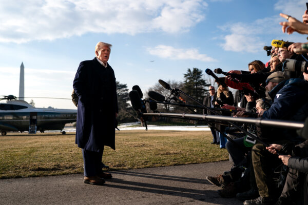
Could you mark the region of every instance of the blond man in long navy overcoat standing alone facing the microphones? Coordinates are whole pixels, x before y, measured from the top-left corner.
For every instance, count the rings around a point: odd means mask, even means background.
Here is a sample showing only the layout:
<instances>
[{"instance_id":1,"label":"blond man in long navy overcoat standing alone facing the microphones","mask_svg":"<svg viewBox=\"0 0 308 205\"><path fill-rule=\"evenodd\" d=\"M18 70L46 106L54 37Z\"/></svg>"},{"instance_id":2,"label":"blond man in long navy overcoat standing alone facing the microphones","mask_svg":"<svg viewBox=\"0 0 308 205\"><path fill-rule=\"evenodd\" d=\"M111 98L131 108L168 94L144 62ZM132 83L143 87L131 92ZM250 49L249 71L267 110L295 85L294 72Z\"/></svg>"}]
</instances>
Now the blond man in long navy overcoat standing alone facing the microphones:
<instances>
[{"instance_id":1,"label":"blond man in long navy overcoat standing alone facing the microphones","mask_svg":"<svg viewBox=\"0 0 308 205\"><path fill-rule=\"evenodd\" d=\"M75 143L83 152L84 182L93 185L112 177L101 168L104 146L115 149L114 125L119 113L114 72L107 63L110 47L99 42L96 57L80 63L73 81L78 95Z\"/></svg>"}]
</instances>

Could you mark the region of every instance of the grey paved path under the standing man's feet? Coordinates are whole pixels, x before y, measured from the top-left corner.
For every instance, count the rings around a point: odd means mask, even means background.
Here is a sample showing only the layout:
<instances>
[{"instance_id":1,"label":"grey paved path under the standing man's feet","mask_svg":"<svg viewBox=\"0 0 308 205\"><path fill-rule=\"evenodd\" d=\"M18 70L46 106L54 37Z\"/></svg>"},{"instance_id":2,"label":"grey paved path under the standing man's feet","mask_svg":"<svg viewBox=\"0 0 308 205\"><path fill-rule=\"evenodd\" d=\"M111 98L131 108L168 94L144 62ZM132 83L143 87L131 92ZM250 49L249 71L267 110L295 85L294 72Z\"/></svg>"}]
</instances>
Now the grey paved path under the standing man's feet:
<instances>
[{"instance_id":1,"label":"grey paved path under the standing man's feet","mask_svg":"<svg viewBox=\"0 0 308 205\"><path fill-rule=\"evenodd\" d=\"M83 174L0 180L0 204L243 204L221 198L205 177L229 170L229 161L113 171L103 186Z\"/></svg>"}]
</instances>

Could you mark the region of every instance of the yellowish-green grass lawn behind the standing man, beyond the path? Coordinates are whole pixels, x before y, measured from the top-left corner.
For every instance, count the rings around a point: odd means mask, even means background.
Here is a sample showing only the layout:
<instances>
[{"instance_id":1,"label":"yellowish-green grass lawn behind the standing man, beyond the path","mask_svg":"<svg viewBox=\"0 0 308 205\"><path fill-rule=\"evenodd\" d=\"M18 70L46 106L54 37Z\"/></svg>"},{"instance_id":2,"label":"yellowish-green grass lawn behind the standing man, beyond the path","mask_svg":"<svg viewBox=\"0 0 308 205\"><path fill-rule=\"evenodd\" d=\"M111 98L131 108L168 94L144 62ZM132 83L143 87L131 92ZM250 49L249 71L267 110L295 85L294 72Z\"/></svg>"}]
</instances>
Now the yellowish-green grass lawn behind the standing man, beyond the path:
<instances>
[{"instance_id":1,"label":"yellowish-green grass lawn behind the standing man, beyond the path","mask_svg":"<svg viewBox=\"0 0 308 205\"><path fill-rule=\"evenodd\" d=\"M211 140L210 131L116 131L116 149L105 147L103 162L123 170L227 160ZM8 133L0 145L0 179L83 173L75 133Z\"/></svg>"}]
</instances>

